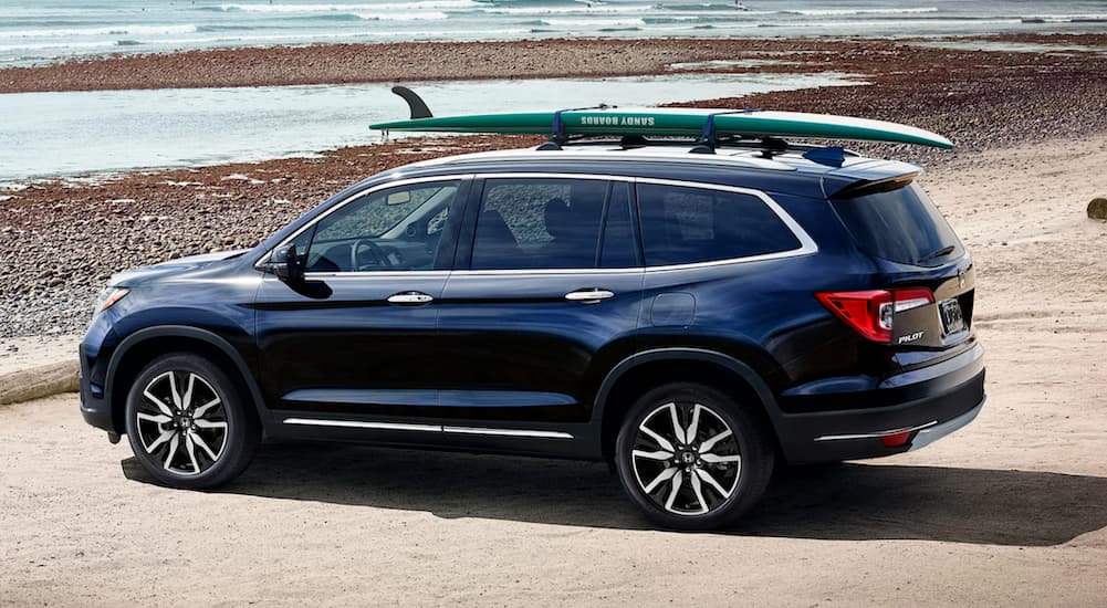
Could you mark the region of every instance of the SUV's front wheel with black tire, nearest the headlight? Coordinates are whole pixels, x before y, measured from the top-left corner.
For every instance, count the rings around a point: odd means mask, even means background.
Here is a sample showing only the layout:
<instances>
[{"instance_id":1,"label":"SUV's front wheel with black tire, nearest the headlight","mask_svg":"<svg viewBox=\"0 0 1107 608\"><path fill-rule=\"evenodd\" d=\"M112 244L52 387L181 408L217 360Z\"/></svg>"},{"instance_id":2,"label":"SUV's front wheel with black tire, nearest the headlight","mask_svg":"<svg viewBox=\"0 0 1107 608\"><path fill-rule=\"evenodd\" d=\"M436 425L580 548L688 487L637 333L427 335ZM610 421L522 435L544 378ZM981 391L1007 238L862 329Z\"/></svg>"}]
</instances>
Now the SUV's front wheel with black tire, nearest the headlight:
<instances>
[{"instance_id":1,"label":"SUV's front wheel with black tire, nearest the headlight","mask_svg":"<svg viewBox=\"0 0 1107 608\"><path fill-rule=\"evenodd\" d=\"M261 425L250 408L211 361L166 354L146 365L127 393L127 441L158 483L215 487L237 477L257 451Z\"/></svg>"}]
</instances>

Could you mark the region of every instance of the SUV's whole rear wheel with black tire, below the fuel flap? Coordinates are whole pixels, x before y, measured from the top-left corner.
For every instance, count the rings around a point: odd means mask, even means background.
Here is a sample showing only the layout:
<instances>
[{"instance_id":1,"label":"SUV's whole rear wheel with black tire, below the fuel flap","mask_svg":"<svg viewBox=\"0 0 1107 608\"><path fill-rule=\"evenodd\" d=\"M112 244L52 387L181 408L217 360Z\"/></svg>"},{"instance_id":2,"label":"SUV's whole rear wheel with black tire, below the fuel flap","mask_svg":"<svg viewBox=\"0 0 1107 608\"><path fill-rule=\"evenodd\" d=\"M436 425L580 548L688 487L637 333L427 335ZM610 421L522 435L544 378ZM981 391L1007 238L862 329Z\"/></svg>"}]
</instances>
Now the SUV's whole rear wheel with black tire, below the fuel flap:
<instances>
[{"instance_id":1,"label":"SUV's whole rear wheel with black tire, below the fuel flap","mask_svg":"<svg viewBox=\"0 0 1107 608\"><path fill-rule=\"evenodd\" d=\"M694 436L684 441L693 420ZM775 457L769 432L746 405L722 391L664 384L627 413L615 440L615 468L623 490L658 525L722 529L768 487Z\"/></svg>"}]
</instances>

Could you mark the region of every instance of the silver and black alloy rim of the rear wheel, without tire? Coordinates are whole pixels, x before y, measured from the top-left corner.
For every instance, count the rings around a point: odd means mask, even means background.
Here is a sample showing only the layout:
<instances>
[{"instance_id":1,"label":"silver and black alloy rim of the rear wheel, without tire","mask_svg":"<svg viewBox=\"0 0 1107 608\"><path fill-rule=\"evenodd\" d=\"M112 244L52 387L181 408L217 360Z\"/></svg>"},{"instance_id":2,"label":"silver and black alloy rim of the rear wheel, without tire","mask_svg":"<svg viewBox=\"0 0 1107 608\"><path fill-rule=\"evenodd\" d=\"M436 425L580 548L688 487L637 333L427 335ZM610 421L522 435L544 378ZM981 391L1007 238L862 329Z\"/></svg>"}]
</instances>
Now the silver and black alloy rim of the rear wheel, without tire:
<instances>
[{"instance_id":1,"label":"silver and black alloy rim of the rear wheel, without tire","mask_svg":"<svg viewBox=\"0 0 1107 608\"><path fill-rule=\"evenodd\" d=\"M676 515L704 515L734 494L742 454L730 424L700 403L670 402L638 426L631 451L641 491Z\"/></svg>"}]
</instances>

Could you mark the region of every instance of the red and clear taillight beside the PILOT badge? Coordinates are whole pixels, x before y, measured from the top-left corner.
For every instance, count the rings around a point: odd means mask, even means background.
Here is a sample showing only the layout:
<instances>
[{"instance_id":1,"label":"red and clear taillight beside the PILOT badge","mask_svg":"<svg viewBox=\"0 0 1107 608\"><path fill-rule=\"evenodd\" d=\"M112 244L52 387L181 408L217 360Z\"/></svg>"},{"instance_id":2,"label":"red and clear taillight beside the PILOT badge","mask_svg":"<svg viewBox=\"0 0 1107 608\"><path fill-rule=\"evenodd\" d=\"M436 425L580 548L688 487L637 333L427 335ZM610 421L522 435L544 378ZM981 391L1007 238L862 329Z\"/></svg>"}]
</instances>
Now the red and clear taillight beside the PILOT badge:
<instances>
[{"instance_id":1,"label":"red and clear taillight beside the PILOT badge","mask_svg":"<svg viewBox=\"0 0 1107 608\"><path fill-rule=\"evenodd\" d=\"M934 303L934 295L925 288L824 291L815 297L861 336L889 343L897 312Z\"/></svg>"}]
</instances>

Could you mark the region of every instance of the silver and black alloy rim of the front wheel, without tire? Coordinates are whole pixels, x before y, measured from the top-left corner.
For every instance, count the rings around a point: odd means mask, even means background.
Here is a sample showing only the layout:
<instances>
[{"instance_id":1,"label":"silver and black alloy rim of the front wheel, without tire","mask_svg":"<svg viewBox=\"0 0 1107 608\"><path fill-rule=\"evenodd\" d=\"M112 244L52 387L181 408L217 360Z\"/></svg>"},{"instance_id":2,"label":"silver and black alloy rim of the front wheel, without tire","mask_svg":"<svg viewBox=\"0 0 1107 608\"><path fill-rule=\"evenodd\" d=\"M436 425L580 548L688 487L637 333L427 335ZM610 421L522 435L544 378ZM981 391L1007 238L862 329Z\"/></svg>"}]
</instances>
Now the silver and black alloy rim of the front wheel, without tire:
<instances>
[{"instance_id":1,"label":"silver and black alloy rim of the front wheel, without tire","mask_svg":"<svg viewBox=\"0 0 1107 608\"><path fill-rule=\"evenodd\" d=\"M194 372L167 371L143 389L135 409L142 447L166 471L199 475L227 445L227 415L211 383Z\"/></svg>"}]
</instances>

